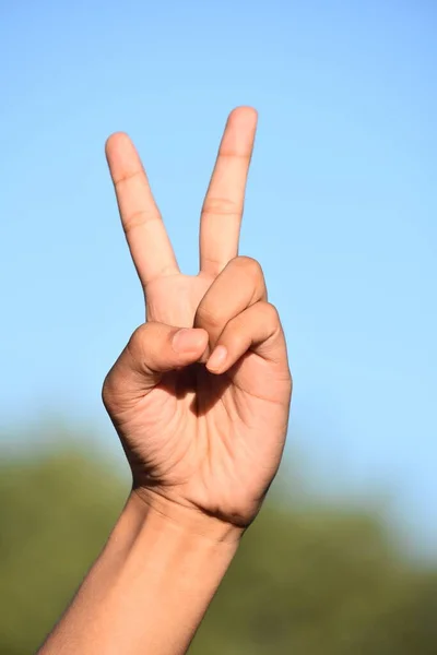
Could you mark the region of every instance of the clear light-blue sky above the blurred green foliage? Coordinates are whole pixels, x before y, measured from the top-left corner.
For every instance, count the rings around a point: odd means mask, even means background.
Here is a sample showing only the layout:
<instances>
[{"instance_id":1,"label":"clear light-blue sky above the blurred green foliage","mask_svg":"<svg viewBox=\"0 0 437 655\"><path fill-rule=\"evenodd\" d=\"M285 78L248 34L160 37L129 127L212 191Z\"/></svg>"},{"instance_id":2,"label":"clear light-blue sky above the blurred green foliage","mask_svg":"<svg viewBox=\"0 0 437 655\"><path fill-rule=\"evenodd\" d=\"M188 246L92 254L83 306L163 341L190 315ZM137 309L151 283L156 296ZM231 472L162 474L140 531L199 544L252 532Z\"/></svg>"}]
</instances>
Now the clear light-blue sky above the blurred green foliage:
<instances>
[{"instance_id":1,"label":"clear light-blue sky above the blurred green foliage","mask_svg":"<svg viewBox=\"0 0 437 655\"><path fill-rule=\"evenodd\" d=\"M437 548L437 9L430 0L0 1L0 420L101 429L143 320L104 159L134 139L181 266L227 112L260 114L241 253L321 489L389 490Z\"/></svg>"}]
</instances>

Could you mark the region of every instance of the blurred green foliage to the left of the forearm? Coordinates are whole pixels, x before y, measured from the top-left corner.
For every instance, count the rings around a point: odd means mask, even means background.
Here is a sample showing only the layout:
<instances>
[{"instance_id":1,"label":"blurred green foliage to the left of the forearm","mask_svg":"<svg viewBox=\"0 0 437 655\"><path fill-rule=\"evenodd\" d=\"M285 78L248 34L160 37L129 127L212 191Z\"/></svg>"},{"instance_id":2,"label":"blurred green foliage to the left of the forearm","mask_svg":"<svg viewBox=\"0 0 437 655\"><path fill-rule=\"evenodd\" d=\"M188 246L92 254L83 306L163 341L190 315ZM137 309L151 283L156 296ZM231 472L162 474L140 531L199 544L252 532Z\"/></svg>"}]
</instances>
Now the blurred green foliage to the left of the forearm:
<instances>
[{"instance_id":1,"label":"blurred green foliage to the left of the forearm","mask_svg":"<svg viewBox=\"0 0 437 655\"><path fill-rule=\"evenodd\" d=\"M35 652L98 555L126 488L79 453L0 471L0 653Z\"/></svg>"}]
</instances>

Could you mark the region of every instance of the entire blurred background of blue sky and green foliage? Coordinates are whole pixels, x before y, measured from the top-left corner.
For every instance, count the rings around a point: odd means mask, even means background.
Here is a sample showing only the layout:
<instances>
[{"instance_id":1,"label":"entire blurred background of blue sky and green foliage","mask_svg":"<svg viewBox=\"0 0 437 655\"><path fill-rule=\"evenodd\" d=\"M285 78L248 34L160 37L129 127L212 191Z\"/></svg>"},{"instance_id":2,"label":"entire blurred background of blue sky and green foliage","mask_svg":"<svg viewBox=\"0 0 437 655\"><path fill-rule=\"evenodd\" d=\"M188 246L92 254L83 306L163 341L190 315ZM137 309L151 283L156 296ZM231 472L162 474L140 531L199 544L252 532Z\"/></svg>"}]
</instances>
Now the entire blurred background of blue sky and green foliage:
<instances>
[{"instance_id":1,"label":"entire blurred background of blue sky and green foliage","mask_svg":"<svg viewBox=\"0 0 437 655\"><path fill-rule=\"evenodd\" d=\"M144 307L105 140L133 138L196 273L241 104L240 252L295 389L192 653L437 653L436 34L434 0L0 0L1 655L36 650L129 488L101 389Z\"/></svg>"}]
</instances>

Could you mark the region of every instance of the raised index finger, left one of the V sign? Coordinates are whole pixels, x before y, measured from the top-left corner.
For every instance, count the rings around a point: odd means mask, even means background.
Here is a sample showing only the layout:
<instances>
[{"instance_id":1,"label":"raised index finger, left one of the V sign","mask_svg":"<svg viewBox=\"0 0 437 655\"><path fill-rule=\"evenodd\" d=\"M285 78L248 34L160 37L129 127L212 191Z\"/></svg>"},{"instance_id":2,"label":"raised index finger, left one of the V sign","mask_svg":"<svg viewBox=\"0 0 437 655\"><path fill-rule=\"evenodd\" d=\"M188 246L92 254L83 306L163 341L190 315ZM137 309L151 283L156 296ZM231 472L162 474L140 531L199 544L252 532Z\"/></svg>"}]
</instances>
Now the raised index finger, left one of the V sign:
<instances>
[{"instance_id":1,"label":"raised index finger, left one of the V sign","mask_svg":"<svg viewBox=\"0 0 437 655\"><path fill-rule=\"evenodd\" d=\"M145 288L157 277L178 273L176 257L141 159L127 134L109 136L106 158L129 250Z\"/></svg>"}]
</instances>

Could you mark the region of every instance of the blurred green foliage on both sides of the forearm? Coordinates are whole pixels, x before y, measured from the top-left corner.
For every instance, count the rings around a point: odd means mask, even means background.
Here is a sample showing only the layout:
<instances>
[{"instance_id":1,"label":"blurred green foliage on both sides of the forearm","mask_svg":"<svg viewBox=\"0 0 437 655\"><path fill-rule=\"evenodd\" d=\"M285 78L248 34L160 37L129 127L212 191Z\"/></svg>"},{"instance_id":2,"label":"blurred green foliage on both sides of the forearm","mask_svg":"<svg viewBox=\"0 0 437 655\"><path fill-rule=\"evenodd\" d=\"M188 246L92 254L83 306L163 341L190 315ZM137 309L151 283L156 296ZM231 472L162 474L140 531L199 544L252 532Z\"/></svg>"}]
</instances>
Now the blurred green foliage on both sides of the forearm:
<instances>
[{"instance_id":1,"label":"blurred green foliage on both sides of the forearm","mask_svg":"<svg viewBox=\"0 0 437 655\"><path fill-rule=\"evenodd\" d=\"M101 550L127 491L99 456L58 449L34 460L3 458L2 655L35 652ZM190 652L430 655L436 616L436 571L401 557L377 516L284 507L273 493Z\"/></svg>"}]
</instances>

